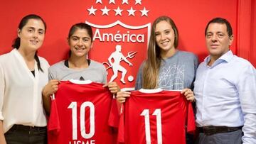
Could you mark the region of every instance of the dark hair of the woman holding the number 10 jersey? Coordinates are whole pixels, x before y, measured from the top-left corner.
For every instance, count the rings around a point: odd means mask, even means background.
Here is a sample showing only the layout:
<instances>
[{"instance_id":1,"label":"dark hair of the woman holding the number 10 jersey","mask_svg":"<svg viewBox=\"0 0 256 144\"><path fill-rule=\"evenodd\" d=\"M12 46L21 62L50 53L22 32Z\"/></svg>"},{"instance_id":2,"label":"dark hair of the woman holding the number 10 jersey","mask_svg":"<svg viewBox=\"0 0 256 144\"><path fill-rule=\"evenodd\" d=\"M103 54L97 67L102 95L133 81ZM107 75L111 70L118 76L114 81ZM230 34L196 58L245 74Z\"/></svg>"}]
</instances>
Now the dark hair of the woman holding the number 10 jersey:
<instances>
[{"instance_id":1,"label":"dark hair of the woman holding the number 10 jersey","mask_svg":"<svg viewBox=\"0 0 256 144\"><path fill-rule=\"evenodd\" d=\"M73 26L71 26L70 31L68 33L68 41L70 40L70 37L77 31L78 29L85 29L87 33L90 35L90 38L92 40L92 27L86 23L75 23ZM71 56L71 50L68 52L68 56Z\"/></svg>"}]
</instances>

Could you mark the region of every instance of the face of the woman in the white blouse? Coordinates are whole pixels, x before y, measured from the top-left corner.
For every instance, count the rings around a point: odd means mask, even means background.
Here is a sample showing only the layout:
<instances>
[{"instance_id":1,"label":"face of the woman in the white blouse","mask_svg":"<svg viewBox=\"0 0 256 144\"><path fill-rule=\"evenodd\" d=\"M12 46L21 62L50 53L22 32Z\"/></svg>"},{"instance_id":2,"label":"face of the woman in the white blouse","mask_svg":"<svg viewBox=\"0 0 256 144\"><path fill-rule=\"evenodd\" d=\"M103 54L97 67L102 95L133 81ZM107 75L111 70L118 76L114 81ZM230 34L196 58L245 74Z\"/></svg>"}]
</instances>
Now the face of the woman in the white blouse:
<instances>
[{"instance_id":1,"label":"face of the woman in the white blouse","mask_svg":"<svg viewBox=\"0 0 256 144\"><path fill-rule=\"evenodd\" d=\"M36 51L43 44L45 26L40 19L29 19L22 29L18 29L21 50Z\"/></svg>"}]
</instances>

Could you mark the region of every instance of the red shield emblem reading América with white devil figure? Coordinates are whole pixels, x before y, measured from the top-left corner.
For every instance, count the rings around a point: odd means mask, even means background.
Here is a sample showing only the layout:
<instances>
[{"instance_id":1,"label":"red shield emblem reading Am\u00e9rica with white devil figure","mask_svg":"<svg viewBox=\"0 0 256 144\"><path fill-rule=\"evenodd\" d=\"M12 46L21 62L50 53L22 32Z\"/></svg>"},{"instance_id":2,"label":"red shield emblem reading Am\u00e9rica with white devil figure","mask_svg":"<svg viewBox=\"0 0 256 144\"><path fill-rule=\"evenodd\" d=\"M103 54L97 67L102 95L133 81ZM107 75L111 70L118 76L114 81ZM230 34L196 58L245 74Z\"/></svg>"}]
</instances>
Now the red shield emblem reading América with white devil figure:
<instances>
[{"instance_id":1,"label":"red shield emblem reading Am\u00e9rica with white devil figure","mask_svg":"<svg viewBox=\"0 0 256 144\"><path fill-rule=\"evenodd\" d=\"M89 57L105 65L108 82L134 89L139 66L146 59L151 23L142 26L129 26L121 21L108 25L85 23L94 28Z\"/></svg>"}]
</instances>

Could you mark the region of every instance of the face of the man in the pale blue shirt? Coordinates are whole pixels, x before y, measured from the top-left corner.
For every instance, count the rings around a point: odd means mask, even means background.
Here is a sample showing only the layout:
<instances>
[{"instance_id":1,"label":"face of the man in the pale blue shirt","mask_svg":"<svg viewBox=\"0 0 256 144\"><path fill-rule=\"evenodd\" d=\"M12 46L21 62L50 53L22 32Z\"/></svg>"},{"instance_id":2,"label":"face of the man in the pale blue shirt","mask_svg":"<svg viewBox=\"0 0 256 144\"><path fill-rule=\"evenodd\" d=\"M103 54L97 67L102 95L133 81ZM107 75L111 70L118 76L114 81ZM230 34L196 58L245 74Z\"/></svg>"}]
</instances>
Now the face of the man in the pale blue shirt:
<instances>
[{"instance_id":1,"label":"face of the man in the pale blue shirt","mask_svg":"<svg viewBox=\"0 0 256 144\"><path fill-rule=\"evenodd\" d=\"M206 46L213 59L228 52L230 45L233 43L233 35L228 36L227 26L225 23L210 23L206 31Z\"/></svg>"}]
</instances>

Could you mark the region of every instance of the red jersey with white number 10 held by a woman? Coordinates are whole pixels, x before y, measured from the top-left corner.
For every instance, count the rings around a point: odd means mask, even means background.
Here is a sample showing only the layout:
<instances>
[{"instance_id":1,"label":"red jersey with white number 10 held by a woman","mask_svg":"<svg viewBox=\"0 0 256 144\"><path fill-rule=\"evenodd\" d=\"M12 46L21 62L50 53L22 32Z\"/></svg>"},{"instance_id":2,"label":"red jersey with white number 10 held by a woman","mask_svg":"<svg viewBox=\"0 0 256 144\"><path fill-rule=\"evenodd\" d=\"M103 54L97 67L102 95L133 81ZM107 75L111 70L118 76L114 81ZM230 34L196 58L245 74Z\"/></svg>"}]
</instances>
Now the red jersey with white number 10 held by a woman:
<instances>
[{"instance_id":1,"label":"red jersey with white number 10 held by a woman","mask_svg":"<svg viewBox=\"0 0 256 144\"><path fill-rule=\"evenodd\" d=\"M50 109L49 144L116 143L117 133L111 126L118 123L112 119L118 117L117 105L102 86L60 82Z\"/></svg>"}]
</instances>

